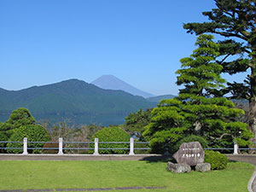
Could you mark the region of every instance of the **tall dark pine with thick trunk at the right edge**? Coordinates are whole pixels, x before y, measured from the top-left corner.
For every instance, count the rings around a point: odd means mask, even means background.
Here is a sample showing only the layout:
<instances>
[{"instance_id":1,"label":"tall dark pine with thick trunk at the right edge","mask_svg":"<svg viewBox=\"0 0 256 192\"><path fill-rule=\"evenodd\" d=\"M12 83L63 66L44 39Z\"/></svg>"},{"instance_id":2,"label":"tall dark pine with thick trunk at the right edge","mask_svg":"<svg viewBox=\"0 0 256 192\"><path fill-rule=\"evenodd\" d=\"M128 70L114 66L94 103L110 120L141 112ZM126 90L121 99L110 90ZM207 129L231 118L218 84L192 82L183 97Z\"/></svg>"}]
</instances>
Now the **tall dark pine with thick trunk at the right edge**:
<instances>
[{"instance_id":1,"label":"tall dark pine with thick trunk at the right edge","mask_svg":"<svg viewBox=\"0 0 256 192\"><path fill-rule=\"evenodd\" d=\"M249 102L248 127L256 141L256 1L215 0L215 3L216 9L202 13L209 22L188 23L183 27L196 35L210 32L224 37L219 42L222 56L218 63L223 67L222 72L249 73L243 83L229 83L229 90L234 98Z\"/></svg>"}]
</instances>

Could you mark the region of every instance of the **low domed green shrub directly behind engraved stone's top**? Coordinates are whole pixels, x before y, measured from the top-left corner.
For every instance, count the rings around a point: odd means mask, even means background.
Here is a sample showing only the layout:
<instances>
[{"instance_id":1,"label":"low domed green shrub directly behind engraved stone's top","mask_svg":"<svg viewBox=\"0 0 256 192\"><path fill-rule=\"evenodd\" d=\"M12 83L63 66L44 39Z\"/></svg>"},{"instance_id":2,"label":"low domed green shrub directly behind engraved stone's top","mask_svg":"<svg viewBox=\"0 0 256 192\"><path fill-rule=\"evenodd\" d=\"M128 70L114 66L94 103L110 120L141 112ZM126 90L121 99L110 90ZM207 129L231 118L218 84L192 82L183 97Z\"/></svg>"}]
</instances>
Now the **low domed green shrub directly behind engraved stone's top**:
<instances>
[{"instance_id":1,"label":"low domed green shrub directly behind engraved stone's top","mask_svg":"<svg viewBox=\"0 0 256 192\"><path fill-rule=\"evenodd\" d=\"M175 145L174 148L171 149L172 153L177 152L178 148L182 145L182 143L189 143L189 142L199 142L201 143L202 148L207 148L208 142L203 137L190 135L188 137L183 137L181 140L179 140Z\"/></svg>"}]
</instances>

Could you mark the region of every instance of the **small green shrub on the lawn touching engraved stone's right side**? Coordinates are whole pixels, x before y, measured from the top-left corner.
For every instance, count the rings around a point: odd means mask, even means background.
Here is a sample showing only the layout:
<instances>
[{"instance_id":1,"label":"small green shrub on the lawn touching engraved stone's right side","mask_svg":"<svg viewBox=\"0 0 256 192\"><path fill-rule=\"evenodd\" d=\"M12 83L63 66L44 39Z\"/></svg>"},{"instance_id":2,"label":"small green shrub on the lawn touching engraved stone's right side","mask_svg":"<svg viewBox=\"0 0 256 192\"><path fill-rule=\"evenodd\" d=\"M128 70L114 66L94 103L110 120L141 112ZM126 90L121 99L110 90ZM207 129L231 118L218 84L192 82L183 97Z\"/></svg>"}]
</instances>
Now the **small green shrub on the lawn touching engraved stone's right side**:
<instances>
[{"instance_id":1,"label":"small green shrub on the lawn touching engraved stone's right side","mask_svg":"<svg viewBox=\"0 0 256 192\"><path fill-rule=\"evenodd\" d=\"M220 154L218 151L206 150L205 162L211 164L212 170L224 169L228 165L228 158L224 154Z\"/></svg>"}]
</instances>

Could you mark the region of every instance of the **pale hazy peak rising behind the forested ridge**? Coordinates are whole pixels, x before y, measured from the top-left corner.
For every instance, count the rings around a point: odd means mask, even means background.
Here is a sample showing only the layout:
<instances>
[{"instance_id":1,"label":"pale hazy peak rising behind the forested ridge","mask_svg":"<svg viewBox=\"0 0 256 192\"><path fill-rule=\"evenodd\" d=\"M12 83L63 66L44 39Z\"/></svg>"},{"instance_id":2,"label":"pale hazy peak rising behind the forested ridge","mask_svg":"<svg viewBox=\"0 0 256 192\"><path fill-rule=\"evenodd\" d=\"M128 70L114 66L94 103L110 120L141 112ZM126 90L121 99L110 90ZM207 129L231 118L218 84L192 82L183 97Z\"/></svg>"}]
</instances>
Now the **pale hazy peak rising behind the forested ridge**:
<instances>
[{"instance_id":1,"label":"pale hazy peak rising behind the forested ridge","mask_svg":"<svg viewBox=\"0 0 256 192\"><path fill-rule=\"evenodd\" d=\"M133 96L143 96L144 98L154 96L143 90L138 90L137 88L131 86L131 84L127 84L113 75L102 75L102 77L92 81L90 84L95 84L96 86L105 90L124 90Z\"/></svg>"}]
</instances>

